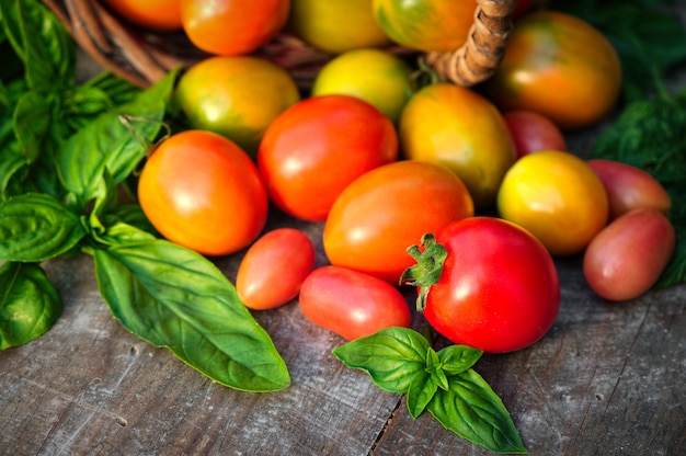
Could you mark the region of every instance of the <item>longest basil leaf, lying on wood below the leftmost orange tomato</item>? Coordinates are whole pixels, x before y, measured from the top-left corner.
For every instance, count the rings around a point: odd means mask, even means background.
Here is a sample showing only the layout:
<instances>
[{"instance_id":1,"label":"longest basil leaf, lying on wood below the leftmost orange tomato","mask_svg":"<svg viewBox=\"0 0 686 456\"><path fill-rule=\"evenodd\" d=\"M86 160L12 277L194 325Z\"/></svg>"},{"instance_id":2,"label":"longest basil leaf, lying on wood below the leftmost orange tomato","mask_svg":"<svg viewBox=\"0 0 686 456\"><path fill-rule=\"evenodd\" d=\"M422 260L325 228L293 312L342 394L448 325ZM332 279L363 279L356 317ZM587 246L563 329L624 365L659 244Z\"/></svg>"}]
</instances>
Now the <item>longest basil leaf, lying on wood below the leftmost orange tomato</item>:
<instances>
[{"instance_id":1,"label":"longest basil leaf, lying on wood below the leftmost orange tomato","mask_svg":"<svg viewBox=\"0 0 686 456\"><path fill-rule=\"evenodd\" d=\"M123 228L119 240L127 238ZM165 240L92 253L101 295L134 334L231 388L274 391L290 384L270 335L209 260Z\"/></svg>"}]
</instances>

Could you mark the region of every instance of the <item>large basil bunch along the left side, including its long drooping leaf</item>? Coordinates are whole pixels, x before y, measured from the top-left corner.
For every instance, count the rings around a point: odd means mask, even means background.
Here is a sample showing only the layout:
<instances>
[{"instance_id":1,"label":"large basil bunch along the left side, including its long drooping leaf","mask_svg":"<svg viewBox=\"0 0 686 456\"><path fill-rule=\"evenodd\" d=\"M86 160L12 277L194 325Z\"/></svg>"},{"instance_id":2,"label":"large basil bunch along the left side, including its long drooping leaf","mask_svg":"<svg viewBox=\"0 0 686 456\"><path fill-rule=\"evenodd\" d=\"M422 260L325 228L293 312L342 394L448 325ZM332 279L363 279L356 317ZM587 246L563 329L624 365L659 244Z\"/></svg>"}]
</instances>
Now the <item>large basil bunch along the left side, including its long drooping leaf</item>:
<instances>
[{"instance_id":1,"label":"large basil bunch along the left side, including its long drooping leaf","mask_svg":"<svg viewBox=\"0 0 686 456\"><path fill-rule=\"evenodd\" d=\"M145 91L107 75L79 86L76 45L41 2L3 1L0 16L0 42L25 69L0 84L0 350L61 315L41 262L87 253L128 331L221 385L286 388L284 360L221 271L159 239L138 204L117 202L165 133L179 71Z\"/></svg>"}]
</instances>

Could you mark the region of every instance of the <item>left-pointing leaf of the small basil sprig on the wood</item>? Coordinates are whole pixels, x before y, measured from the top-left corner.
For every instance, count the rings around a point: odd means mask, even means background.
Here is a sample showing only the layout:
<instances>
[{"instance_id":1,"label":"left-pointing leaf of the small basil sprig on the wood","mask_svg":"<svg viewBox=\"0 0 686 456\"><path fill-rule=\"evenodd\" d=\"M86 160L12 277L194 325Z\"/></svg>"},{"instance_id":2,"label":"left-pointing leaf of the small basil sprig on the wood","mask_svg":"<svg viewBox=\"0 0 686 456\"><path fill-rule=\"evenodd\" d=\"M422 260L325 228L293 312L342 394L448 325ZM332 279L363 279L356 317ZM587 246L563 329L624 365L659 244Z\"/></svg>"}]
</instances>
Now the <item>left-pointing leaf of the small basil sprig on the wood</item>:
<instances>
[{"instance_id":1,"label":"left-pointing leaf of the small basil sprig on the wood","mask_svg":"<svg viewBox=\"0 0 686 456\"><path fill-rule=\"evenodd\" d=\"M333 350L347 367L366 372L379 388L404 394L426 375L428 342L407 328L387 328Z\"/></svg>"}]
</instances>

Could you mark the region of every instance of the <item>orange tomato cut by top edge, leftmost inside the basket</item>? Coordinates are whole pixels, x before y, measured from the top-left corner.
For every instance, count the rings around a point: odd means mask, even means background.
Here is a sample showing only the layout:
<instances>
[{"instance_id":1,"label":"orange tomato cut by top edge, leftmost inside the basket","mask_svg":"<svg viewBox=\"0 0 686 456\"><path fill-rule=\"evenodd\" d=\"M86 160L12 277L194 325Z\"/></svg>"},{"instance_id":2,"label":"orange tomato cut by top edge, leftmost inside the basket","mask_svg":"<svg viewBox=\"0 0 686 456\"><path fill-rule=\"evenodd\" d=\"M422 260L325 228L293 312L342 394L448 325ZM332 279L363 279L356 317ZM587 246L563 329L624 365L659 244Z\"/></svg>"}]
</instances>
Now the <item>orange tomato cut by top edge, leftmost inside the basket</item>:
<instances>
[{"instance_id":1,"label":"orange tomato cut by top edge, leftmost inside the basket","mask_svg":"<svg viewBox=\"0 0 686 456\"><path fill-rule=\"evenodd\" d=\"M181 30L181 0L103 0L117 15L153 31Z\"/></svg>"}]
</instances>

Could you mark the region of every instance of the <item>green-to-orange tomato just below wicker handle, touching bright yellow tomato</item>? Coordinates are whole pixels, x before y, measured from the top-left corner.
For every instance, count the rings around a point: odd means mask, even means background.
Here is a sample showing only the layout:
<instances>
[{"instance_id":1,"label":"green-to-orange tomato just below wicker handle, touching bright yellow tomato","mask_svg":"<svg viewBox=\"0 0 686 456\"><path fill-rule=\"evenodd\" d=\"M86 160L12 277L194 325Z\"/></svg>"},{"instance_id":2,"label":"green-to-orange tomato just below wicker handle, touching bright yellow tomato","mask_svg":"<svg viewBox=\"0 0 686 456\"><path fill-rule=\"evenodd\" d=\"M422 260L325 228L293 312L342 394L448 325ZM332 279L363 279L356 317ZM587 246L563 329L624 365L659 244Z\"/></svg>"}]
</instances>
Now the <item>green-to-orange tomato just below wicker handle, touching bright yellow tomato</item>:
<instances>
[{"instance_id":1,"label":"green-to-orange tomato just below wicker handle, touching bright yellow tomato","mask_svg":"<svg viewBox=\"0 0 686 456\"><path fill-rule=\"evenodd\" d=\"M515 161L507 124L473 90L443 82L418 91L400 116L400 145L409 159L438 162L460 176L475 206L485 208Z\"/></svg>"}]
</instances>

